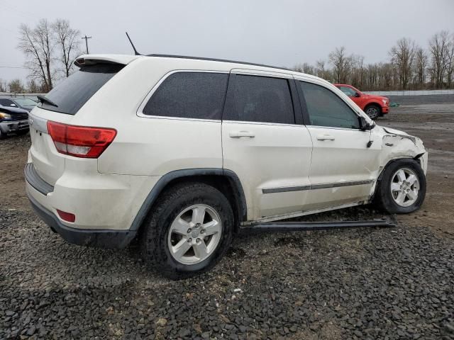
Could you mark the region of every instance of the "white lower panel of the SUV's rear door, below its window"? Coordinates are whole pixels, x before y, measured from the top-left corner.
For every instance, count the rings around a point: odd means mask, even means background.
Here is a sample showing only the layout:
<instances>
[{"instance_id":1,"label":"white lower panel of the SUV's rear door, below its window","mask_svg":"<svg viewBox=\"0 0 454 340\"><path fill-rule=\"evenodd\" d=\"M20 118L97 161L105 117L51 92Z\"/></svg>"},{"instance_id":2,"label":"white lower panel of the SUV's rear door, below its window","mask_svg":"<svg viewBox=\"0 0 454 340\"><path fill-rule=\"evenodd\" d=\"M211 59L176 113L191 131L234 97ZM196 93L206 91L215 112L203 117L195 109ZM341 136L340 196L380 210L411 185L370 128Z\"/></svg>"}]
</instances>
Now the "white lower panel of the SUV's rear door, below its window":
<instances>
[{"instance_id":1,"label":"white lower panel of the SUV's rear door, below its window","mask_svg":"<svg viewBox=\"0 0 454 340\"><path fill-rule=\"evenodd\" d=\"M236 131L255 137L231 138ZM309 185L312 142L303 125L223 122L224 168L243 184L252 219L299 211L307 191L262 193L264 188Z\"/></svg>"}]
</instances>

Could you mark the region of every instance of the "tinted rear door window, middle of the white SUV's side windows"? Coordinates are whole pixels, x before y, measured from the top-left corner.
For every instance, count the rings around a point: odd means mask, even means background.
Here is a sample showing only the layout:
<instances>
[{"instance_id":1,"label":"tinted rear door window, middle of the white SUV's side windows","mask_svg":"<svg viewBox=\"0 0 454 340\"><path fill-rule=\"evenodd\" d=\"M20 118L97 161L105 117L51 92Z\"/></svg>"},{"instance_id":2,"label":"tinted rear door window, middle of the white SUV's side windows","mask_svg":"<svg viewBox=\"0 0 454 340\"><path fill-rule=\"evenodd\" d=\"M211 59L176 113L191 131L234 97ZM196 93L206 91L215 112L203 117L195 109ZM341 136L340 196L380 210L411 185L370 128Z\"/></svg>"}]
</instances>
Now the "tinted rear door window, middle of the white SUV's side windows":
<instances>
[{"instance_id":1,"label":"tinted rear door window, middle of the white SUV's side windows","mask_svg":"<svg viewBox=\"0 0 454 340\"><path fill-rule=\"evenodd\" d=\"M223 120L294 124L287 79L237 74L228 90Z\"/></svg>"}]
</instances>

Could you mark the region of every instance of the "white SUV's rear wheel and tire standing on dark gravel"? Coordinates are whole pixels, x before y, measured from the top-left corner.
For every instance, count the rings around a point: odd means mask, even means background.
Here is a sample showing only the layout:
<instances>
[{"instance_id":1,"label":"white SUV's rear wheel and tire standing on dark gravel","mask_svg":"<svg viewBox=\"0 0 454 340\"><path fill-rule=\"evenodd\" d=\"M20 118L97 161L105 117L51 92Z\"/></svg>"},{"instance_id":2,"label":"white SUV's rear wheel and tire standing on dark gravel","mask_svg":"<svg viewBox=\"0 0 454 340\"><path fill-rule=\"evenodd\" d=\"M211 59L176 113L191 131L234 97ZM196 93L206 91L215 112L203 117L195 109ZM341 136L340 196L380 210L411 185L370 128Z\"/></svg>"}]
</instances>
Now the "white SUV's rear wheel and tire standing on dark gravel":
<instances>
[{"instance_id":1,"label":"white SUV's rear wheel and tire standing on dark gravel","mask_svg":"<svg viewBox=\"0 0 454 340\"><path fill-rule=\"evenodd\" d=\"M162 194L143 227L145 261L168 278L188 278L209 271L226 253L233 211L216 188L182 183Z\"/></svg>"}]
</instances>

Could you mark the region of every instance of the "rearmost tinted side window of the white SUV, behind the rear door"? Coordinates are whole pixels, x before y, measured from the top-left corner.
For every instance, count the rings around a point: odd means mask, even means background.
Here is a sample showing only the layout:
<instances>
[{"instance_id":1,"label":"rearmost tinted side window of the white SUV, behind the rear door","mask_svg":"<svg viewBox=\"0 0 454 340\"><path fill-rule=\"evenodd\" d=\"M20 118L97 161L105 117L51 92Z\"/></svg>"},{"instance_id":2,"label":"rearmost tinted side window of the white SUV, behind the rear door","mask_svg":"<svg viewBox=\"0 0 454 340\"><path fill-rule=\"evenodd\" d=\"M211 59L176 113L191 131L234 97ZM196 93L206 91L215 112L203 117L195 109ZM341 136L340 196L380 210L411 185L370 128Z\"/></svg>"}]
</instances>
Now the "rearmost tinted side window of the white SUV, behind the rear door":
<instances>
[{"instance_id":1,"label":"rearmost tinted side window of the white SUV, behind the rear door","mask_svg":"<svg viewBox=\"0 0 454 340\"><path fill-rule=\"evenodd\" d=\"M228 74L179 72L157 88L143 108L145 115L221 120Z\"/></svg>"}]
</instances>

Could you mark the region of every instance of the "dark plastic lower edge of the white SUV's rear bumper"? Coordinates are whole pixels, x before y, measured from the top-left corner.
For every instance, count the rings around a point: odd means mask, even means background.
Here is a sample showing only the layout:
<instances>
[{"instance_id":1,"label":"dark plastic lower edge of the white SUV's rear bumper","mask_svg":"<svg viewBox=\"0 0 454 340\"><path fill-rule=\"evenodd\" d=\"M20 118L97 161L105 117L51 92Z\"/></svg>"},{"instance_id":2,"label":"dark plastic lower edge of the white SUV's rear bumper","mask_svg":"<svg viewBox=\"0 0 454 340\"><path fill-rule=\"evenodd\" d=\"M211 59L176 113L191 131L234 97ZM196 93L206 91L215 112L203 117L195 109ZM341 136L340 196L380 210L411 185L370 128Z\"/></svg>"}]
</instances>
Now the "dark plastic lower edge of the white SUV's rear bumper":
<instances>
[{"instance_id":1,"label":"dark plastic lower edge of the white SUV's rear bumper","mask_svg":"<svg viewBox=\"0 0 454 340\"><path fill-rule=\"evenodd\" d=\"M40 205L37 200L27 192L33 210L39 217L52 229L65 239L66 242L79 244L81 246L99 246L102 248L124 248L135 237L135 230L96 230L96 229L76 229L63 225L57 216Z\"/></svg>"}]
</instances>

